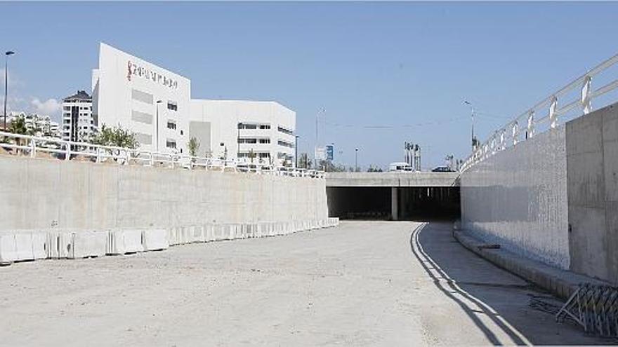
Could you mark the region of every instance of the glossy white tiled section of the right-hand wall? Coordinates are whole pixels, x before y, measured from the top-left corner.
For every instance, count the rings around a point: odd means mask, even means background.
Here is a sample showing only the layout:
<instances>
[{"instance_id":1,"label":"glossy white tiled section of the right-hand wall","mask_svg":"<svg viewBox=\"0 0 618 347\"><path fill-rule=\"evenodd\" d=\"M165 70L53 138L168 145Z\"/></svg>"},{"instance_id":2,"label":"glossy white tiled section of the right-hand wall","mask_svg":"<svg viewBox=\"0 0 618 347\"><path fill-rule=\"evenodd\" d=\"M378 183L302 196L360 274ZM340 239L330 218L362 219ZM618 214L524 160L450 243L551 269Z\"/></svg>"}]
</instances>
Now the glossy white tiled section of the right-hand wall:
<instances>
[{"instance_id":1,"label":"glossy white tiled section of the right-hand wall","mask_svg":"<svg viewBox=\"0 0 618 347\"><path fill-rule=\"evenodd\" d=\"M463 172L463 227L487 242L569 268L565 151L560 126Z\"/></svg>"}]
</instances>

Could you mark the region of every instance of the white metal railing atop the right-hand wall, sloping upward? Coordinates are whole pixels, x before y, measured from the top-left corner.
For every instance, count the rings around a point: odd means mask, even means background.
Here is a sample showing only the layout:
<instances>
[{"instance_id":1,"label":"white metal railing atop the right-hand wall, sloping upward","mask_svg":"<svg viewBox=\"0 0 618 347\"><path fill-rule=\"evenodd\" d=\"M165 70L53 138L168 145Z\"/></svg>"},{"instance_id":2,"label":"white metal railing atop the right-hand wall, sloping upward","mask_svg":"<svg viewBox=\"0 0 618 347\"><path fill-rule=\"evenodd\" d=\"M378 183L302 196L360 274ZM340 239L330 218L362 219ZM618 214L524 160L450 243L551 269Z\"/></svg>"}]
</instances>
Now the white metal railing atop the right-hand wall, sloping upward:
<instances>
[{"instance_id":1,"label":"white metal railing atop the right-hand wall, sloping upward","mask_svg":"<svg viewBox=\"0 0 618 347\"><path fill-rule=\"evenodd\" d=\"M549 95L544 100L541 100L530 109L527 109L524 113L515 117L511 122L504 125L502 128L496 130L489 139L478 145L473 153L466 158L466 161L461 165L460 172L463 172L470 168L472 165L485 160L489 156L496 154L508 147L513 147L518 142L525 141L534 137L534 135L546 130L554 129L558 126L558 120L567 118L568 114L574 114L572 118L577 118L583 114L589 114L594 109L592 100L601 95L618 88L618 79L605 83L603 86L597 89L593 89L592 81L593 77L606 72L610 67L618 67L618 54L610 57L610 59L598 64L589 72L575 79L567 86L558 90L557 92ZM604 78L611 79L618 74L605 74ZM617 100L618 97L614 97L612 101ZM560 104L564 104L563 107L559 107ZM607 103L602 104L607 106ZM537 117L541 114L541 117ZM520 131L520 128L524 128L524 131Z\"/></svg>"}]
</instances>

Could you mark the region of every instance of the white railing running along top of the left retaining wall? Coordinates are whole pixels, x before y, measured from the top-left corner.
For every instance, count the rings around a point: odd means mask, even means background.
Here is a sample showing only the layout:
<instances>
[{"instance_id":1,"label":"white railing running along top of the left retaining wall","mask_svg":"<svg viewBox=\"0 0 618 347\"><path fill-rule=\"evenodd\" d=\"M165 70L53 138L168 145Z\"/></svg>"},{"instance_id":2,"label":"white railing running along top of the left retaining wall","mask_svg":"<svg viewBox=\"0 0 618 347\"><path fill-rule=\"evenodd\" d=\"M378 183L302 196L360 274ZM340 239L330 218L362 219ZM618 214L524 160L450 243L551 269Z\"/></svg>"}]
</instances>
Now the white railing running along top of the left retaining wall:
<instances>
[{"instance_id":1,"label":"white railing running along top of the left retaining wall","mask_svg":"<svg viewBox=\"0 0 618 347\"><path fill-rule=\"evenodd\" d=\"M93 163L116 163L118 165L143 165L164 168L203 169L228 172L246 172L289 177L324 178L324 172L301 168L287 168L270 164L250 163L237 159L183 156L143 149L103 146L85 142L73 142L53 137L37 137L0 131L0 148L36 158L39 153L51 154L60 160L79 158Z\"/></svg>"}]
</instances>

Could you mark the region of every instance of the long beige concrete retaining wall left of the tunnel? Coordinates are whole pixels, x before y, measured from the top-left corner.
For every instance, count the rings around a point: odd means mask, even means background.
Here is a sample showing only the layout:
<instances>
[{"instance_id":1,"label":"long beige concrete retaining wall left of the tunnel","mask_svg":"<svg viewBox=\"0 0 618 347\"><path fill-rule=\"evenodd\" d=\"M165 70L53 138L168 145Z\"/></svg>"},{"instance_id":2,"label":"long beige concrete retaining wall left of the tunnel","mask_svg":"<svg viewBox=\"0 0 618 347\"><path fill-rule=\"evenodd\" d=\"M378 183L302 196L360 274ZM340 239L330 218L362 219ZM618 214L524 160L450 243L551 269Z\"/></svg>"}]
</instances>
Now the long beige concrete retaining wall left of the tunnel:
<instances>
[{"instance_id":1,"label":"long beige concrete retaining wall left of the tunnel","mask_svg":"<svg viewBox=\"0 0 618 347\"><path fill-rule=\"evenodd\" d=\"M0 231L326 219L324 179L0 156Z\"/></svg>"}]
</instances>

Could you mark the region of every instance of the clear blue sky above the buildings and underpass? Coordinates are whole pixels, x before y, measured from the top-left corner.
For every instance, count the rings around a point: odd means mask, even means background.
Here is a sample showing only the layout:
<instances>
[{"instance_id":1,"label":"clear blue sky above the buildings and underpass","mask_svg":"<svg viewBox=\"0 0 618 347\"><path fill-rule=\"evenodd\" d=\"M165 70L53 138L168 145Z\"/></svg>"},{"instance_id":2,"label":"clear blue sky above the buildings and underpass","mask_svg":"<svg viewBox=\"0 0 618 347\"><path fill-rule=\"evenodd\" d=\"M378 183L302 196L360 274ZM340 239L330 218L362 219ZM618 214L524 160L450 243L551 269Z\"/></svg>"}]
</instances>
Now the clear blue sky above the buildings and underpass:
<instances>
[{"instance_id":1,"label":"clear blue sky above the buildings and underpass","mask_svg":"<svg viewBox=\"0 0 618 347\"><path fill-rule=\"evenodd\" d=\"M618 3L0 3L12 109L58 115L90 88L100 41L192 80L192 96L294 109L299 151L388 165L403 142L423 166L470 151L618 52ZM8 28L8 30L6 29ZM4 90L3 90L4 91Z\"/></svg>"}]
</instances>

